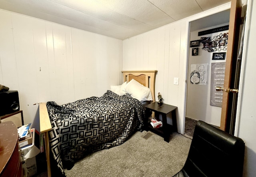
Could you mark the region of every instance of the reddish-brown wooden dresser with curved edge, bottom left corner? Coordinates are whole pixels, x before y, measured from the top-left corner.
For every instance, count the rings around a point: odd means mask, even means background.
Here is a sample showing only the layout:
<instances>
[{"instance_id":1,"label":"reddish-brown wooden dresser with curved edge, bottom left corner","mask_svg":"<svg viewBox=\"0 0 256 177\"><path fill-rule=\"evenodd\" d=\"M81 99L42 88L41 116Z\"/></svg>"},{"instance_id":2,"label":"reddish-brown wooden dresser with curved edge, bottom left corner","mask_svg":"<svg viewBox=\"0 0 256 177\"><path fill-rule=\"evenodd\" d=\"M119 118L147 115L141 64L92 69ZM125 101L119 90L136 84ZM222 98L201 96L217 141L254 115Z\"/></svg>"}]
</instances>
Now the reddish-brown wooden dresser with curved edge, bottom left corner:
<instances>
[{"instance_id":1,"label":"reddish-brown wooden dresser with curved edge, bottom left corner","mask_svg":"<svg viewBox=\"0 0 256 177\"><path fill-rule=\"evenodd\" d=\"M0 123L0 159L0 177L22 176L18 131L12 121Z\"/></svg>"}]
</instances>

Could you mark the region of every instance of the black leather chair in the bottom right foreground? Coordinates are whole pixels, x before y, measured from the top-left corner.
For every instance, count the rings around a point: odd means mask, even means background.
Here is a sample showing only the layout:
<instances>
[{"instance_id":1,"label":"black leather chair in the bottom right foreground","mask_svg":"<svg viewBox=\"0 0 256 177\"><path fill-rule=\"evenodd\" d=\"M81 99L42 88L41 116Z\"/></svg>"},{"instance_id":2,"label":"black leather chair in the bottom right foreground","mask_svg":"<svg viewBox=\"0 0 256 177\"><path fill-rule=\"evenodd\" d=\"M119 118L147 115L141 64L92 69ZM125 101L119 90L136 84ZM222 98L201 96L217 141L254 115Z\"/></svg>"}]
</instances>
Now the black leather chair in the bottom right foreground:
<instances>
[{"instance_id":1,"label":"black leather chair in the bottom right foreground","mask_svg":"<svg viewBox=\"0 0 256 177\"><path fill-rule=\"evenodd\" d=\"M184 167L174 177L242 177L244 141L198 121Z\"/></svg>"}]
</instances>

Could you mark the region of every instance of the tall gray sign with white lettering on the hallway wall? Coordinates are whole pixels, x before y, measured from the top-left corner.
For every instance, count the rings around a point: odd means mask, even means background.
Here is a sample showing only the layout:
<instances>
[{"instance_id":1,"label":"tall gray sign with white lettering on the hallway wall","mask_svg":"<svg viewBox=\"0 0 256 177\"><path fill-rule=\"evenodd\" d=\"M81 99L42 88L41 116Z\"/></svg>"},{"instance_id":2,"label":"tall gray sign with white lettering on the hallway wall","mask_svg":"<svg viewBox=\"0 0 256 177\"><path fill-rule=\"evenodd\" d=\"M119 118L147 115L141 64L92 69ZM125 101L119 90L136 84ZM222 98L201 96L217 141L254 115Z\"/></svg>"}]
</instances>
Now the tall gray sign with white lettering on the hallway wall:
<instances>
[{"instance_id":1,"label":"tall gray sign with white lettering on the hallway wall","mask_svg":"<svg viewBox=\"0 0 256 177\"><path fill-rule=\"evenodd\" d=\"M212 63L210 105L222 107L223 91L216 91L216 87L224 86L226 62Z\"/></svg>"}]
</instances>

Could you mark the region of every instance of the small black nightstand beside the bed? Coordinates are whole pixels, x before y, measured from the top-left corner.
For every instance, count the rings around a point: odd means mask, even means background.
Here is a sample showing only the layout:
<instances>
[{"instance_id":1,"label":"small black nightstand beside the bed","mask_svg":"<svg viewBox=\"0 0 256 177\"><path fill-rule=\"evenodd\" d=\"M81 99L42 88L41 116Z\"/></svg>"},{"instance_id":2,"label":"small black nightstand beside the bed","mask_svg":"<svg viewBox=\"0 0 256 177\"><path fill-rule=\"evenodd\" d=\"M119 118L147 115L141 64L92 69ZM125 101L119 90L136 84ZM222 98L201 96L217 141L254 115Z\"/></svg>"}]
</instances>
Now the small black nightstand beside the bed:
<instances>
[{"instance_id":1,"label":"small black nightstand beside the bed","mask_svg":"<svg viewBox=\"0 0 256 177\"><path fill-rule=\"evenodd\" d=\"M145 130L153 131L154 133L164 137L164 141L169 142L170 141L170 133L172 131L177 131L177 121L176 121L176 106L164 104L164 103L158 103L154 102L148 105L145 105L146 107L146 117L144 119L145 124ZM154 111L156 116L159 114L162 115L162 127L154 128L149 123L149 117L151 116L151 111ZM172 125L167 124L167 114L172 114Z\"/></svg>"}]
</instances>

